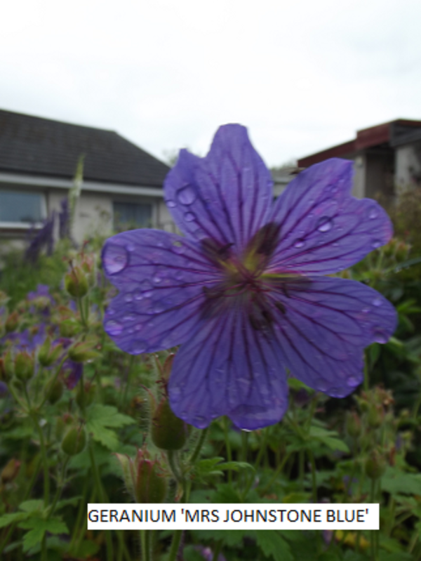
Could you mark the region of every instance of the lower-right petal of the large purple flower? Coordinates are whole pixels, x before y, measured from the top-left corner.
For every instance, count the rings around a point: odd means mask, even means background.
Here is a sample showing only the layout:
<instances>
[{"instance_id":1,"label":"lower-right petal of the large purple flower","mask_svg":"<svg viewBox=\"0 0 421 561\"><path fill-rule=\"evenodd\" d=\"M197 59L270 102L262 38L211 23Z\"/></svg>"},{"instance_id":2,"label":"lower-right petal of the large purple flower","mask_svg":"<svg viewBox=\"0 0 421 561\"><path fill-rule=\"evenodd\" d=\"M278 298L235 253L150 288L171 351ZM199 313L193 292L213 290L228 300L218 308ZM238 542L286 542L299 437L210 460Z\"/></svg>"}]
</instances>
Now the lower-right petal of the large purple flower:
<instances>
[{"instance_id":1,"label":"lower-right petal of the large purple flower","mask_svg":"<svg viewBox=\"0 0 421 561\"><path fill-rule=\"evenodd\" d=\"M361 383L363 348L396 329L392 304L360 282L309 277L271 296L283 308L274 306L274 333L290 373L332 397Z\"/></svg>"}]
</instances>

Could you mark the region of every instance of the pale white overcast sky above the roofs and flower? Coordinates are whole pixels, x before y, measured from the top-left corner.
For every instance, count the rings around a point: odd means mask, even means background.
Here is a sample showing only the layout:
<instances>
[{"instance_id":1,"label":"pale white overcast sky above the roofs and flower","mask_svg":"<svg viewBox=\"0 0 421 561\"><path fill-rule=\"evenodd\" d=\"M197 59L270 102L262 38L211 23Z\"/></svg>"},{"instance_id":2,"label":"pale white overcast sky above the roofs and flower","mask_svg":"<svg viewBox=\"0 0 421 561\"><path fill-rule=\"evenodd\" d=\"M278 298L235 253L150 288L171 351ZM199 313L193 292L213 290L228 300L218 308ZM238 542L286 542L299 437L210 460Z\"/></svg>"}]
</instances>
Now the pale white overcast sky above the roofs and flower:
<instances>
[{"instance_id":1,"label":"pale white overcast sky above the roofs and flower","mask_svg":"<svg viewBox=\"0 0 421 561\"><path fill-rule=\"evenodd\" d=\"M420 21L420 0L5 1L0 108L161 159L238 122L277 166L421 119Z\"/></svg>"}]
</instances>

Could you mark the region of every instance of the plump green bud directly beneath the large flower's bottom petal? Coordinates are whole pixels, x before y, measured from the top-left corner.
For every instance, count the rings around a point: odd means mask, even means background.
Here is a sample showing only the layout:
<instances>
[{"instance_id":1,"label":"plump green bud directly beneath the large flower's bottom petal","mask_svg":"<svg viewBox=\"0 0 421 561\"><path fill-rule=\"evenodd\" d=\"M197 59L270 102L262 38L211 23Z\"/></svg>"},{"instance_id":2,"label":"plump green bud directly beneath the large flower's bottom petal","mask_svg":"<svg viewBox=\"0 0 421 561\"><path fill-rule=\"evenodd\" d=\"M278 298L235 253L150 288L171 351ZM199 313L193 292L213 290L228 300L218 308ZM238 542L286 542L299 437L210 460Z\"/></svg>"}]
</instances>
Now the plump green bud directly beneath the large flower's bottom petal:
<instances>
[{"instance_id":1,"label":"plump green bud directly beneath the large flower's bottom petal","mask_svg":"<svg viewBox=\"0 0 421 561\"><path fill-rule=\"evenodd\" d=\"M187 440L188 425L173 414L163 397L152 417L152 442L162 450L180 450Z\"/></svg>"}]
</instances>

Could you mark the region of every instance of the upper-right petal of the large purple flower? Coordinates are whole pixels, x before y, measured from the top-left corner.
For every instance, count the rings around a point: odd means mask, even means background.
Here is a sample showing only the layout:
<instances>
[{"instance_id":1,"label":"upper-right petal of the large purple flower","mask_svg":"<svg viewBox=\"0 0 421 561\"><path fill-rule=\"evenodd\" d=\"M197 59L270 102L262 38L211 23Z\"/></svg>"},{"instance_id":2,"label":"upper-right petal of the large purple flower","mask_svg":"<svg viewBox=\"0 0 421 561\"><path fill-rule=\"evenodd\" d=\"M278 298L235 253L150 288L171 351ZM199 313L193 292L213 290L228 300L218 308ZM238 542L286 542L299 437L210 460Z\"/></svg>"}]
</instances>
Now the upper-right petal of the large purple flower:
<instances>
[{"instance_id":1,"label":"upper-right petal of the large purple flower","mask_svg":"<svg viewBox=\"0 0 421 561\"><path fill-rule=\"evenodd\" d=\"M346 269L392 237L392 223L371 199L355 199L352 162L329 159L302 171L274 204L281 241L271 268L328 275Z\"/></svg>"}]
</instances>

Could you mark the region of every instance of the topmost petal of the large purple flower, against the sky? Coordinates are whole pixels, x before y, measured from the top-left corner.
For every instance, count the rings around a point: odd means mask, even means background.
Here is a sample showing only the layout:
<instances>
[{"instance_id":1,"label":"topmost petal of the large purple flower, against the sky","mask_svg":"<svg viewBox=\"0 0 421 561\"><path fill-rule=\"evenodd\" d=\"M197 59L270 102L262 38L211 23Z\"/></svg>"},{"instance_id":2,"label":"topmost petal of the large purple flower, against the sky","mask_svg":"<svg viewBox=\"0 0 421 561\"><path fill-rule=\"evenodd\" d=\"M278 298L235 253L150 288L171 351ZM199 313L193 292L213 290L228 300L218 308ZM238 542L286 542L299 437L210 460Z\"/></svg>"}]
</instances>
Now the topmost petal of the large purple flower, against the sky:
<instances>
[{"instance_id":1,"label":"topmost petal of the large purple flower, against the sky","mask_svg":"<svg viewBox=\"0 0 421 561\"><path fill-rule=\"evenodd\" d=\"M180 151L165 183L168 209L190 238L212 238L240 251L267 222L272 178L247 129L221 126L205 158Z\"/></svg>"}]
</instances>

